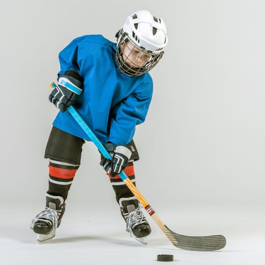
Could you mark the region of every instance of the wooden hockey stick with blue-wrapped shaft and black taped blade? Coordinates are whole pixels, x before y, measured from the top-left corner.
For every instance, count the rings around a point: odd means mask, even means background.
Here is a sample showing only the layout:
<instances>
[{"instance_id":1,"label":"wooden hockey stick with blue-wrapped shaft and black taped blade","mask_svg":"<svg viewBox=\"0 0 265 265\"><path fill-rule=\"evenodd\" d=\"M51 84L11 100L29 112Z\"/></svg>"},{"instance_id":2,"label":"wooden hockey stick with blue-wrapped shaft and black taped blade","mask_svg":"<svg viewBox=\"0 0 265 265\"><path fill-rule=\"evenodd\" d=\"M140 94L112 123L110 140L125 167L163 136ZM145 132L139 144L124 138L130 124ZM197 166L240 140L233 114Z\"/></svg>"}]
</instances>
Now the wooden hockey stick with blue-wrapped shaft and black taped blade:
<instances>
[{"instance_id":1,"label":"wooden hockey stick with blue-wrapped shaft and black taped blade","mask_svg":"<svg viewBox=\"0 0 265 265\"><path fill-rule=\"evenodd\" d=\"M53 83L54 84L54 83ZM50 85L54 87L54 85ZM80 115L76 112L73 106L67 108L77 123L82 127L85 133L89 136L90 140L96 145L99 151L103 154L104 157L112 160L112 156L105 149L104 145L99 141L96 135L91 131L85 121L80 117ZM143 195L138 191L135 185L131 182L131 180L126 176L126 174L122 171L119 176L131 190L131 192L135 195L138 201L143 205L144 209L149 213L149 215L153 218L156 224L160 227L160 229L164 232L170 242L177 248L186 249L186 250L194 250L194 251L214 251L224 248L226 245L226 239L224 236L216 235L216 236L183 236L174 233L171 231L158 217L152 207L145 200Z\"/></svg>"}]
</instances>

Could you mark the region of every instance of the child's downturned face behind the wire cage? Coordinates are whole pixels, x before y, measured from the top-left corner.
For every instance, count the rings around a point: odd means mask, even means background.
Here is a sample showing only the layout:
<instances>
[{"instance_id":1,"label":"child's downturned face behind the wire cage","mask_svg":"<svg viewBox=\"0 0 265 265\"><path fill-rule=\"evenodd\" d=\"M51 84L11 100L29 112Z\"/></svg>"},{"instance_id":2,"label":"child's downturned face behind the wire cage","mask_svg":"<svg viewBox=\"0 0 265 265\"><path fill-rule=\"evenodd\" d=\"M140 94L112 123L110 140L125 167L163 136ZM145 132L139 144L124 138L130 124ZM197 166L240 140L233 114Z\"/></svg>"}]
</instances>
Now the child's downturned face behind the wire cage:
<instances>
[{"instance_id":1,"label":"child's downturned face behind the wire cage","mask_svg":"<svg viewBox=\"0 0 265 265\"><path fill-rule=\"evenodd\" d=\"M121 44L122 48L122 59L130 68L140 68L143 67L151 58L150 54L147 54L140 49L138 49L130 41L123 42Z\"/></svg>"}]
</instances>

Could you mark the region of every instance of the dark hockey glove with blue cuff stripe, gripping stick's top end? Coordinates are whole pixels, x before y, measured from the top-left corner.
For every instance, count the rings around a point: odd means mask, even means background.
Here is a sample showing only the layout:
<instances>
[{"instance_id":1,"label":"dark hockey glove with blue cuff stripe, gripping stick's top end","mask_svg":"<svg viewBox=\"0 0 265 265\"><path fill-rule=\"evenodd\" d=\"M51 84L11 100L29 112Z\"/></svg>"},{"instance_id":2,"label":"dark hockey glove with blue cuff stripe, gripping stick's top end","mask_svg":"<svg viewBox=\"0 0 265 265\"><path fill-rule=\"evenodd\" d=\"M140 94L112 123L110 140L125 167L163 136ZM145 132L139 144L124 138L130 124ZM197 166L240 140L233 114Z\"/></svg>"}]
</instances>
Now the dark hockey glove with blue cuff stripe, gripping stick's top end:
<instances>
[{"instance_id":1,"label":"dark hockey glove with blue cuff stripe, gripping stick's top end","mask_svg":"<svg viewBox=\"0 0 265 265\"><path fill-rule=\"evenodd\" d=\"M61 112L65 112L67 107L73 105L78 95L82 92L82 78L74 71L66 71L65 74L60 74L58 79L58 86L52 90L49 100Z\"/></svg>"}]
</instances>

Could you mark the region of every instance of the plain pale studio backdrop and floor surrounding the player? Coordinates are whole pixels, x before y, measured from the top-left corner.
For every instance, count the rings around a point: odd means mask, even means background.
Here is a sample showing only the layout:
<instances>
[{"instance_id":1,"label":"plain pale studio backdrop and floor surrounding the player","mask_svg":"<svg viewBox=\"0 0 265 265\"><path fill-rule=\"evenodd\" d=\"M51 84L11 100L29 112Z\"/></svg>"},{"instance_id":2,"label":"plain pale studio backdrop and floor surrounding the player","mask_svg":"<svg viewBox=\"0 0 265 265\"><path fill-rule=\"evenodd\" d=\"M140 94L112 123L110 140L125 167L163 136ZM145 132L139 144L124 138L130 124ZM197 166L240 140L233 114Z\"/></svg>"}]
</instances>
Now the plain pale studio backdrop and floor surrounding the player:
<instances>
[{"instance_id":1,"label":"plain pale studio backdrop and floor surrounding the player","mask_svg":"<svg viewBox=\"0 0 265 265\"><path fill-rule=\"evenodd\" d=\"M224 0L2 2L3 264L151 264L157 254L173 254L178 264L264 264L264 8L264 1ZM149 217L149 248L130 241L89 142L56 239L36 245L29 223L48 188L43 156L58 112L48 101L58 54L85 34L116 41L126 17L140 9L164 19L169 41L150 72L153 99L134 136L137 187L174 232L220 233L227 246L177 250Z\"/></svg>"}]
</instances>

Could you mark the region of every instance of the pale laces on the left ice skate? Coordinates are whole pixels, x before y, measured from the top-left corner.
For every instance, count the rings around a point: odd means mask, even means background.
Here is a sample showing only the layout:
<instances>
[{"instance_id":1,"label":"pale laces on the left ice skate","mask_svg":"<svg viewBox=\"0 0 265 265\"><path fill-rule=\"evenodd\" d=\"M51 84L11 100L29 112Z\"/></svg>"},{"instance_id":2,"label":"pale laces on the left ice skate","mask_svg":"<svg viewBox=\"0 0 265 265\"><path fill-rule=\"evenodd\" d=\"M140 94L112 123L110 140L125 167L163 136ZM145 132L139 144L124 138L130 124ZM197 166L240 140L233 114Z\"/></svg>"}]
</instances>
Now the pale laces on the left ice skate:
<instances>
[{"instance_id":1,"label":"pale laces on the left ice skate","mask_svg":"<svg viewBox=\"0 0 265 265\"><path fill-rule=\"evenodd\" d=\"M46 206L42 212L40 212L38 215L36 215L36 217L33 218L30 224L30 228L33 229L34 224L38 221L44 221L50 224L53 229L57 228L58 218L59 215L61 215L60 214L61 211L62 210L50 209L49 207Z\"/></svg>"}]
</instances>

